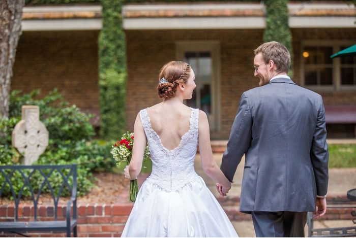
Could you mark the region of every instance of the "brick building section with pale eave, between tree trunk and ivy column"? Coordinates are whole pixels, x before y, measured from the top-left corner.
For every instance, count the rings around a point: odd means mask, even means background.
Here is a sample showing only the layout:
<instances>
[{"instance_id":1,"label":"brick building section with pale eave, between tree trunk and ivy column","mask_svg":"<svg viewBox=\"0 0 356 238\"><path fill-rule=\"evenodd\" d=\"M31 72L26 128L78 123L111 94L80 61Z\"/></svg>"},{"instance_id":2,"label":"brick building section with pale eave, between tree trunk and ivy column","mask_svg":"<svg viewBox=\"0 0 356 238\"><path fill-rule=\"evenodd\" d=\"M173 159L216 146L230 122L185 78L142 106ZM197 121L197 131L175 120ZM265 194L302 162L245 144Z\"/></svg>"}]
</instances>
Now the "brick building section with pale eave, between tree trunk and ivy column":
<instances>
[{"instance_id":1,"label":"brick building section with pale eave, between tree trunk and ivy column","mask_svg":"<svg viewBox=\"0 0 356 238\"><path fill-rule=\"evenodd\" d=\"M25 7L11 90L57 88L99 126L100 6Z\"/></svg>"}]
</instances>

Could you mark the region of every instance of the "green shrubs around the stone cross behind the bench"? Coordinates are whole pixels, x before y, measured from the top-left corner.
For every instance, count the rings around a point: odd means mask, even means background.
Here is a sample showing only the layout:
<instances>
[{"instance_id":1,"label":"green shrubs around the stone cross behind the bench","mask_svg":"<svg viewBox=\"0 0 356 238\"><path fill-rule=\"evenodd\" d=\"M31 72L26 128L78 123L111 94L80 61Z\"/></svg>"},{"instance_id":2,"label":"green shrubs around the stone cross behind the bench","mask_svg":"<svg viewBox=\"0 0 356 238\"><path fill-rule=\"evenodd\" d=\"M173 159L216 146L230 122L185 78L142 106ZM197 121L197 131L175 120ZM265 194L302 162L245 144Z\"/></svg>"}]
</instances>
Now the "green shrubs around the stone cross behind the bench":
<instances>
[{"instance_id":1,"label":"green shrubs around the stone cross behind the bench","mask_svg":"<svg viewBox=\"0 0 356 238\"><path fill-rule=\"evenodd\" d=\"M115 162L110 155L111 142L92 140L94 129L90 123L91 115L82 113L79 108L69 105L61 94L54 90L41 99L39 90L20 95L19 91L12 91L10 98L9 118L0 119L0 164L20 164L22 155L12 147L11 134L17 122L21 120L22 105L36 105L40 107L40 120L45 124L49 132L49 143L45 152L35 164L78 164L78 195L86 194L93 186L93 172L109 171ZM36 177L37 176L37 177ZM17 193L23 184L20 174L12 177L17 181L15 192ZM41 178L34 175L32 184L38 188ZM0 176L0 184L4 177ZM53 174L49 182L54 185L55 191L62 183L58 174ZM16 190L17 189L17 190ZM35 189L36 190L36 189ZM44 192L48 192L45 188ZM2 196L10 193L6 187ZM64 194L64 195L68 195ZM23 196L29 196L29 191L23 191Z\"/></svg>"}]
</instances>

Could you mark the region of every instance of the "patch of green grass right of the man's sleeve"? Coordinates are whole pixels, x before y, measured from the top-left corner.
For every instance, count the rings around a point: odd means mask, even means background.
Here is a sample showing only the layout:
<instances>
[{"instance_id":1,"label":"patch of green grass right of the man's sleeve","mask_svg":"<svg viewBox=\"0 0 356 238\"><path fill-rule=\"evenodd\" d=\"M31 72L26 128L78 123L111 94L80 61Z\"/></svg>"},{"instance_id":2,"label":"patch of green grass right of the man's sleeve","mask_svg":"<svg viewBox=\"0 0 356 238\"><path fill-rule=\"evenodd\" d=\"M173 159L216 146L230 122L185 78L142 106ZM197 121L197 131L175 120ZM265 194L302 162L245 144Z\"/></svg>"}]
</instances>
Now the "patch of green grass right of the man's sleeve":
<instances>
[{"instance_id":1,"label":"patch of green grass right of the man's sleeve","mask_svg":"<svg viewBox=\"0 0 356 238\"><path fill-rule=\"evenodd\" d=\"M356 145L329 144L329 167L356 167Z\"/></svg>"}]
</instances>

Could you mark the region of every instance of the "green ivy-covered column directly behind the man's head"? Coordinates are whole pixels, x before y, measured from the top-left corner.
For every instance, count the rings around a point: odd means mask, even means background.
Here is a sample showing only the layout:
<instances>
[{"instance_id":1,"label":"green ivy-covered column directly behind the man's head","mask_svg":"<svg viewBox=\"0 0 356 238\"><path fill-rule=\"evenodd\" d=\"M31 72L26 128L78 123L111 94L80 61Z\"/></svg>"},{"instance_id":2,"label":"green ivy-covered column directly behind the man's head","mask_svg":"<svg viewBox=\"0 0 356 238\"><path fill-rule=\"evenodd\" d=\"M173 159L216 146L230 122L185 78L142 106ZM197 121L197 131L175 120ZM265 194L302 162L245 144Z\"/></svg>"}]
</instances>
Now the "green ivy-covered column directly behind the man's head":
<instances>
[{"instance_id":1,"label":"green ivy-covered column directly behind the man's head","mask_svg":"<svg viewBox=\"0 0 356 238\"><path fill-rule=\"evenodd\" d=\"M264 0L266 8L266 28L263 42L277 41L287 47L290 53L289 76L292 77L292 34L288 25L288 0Z\"/></svg>"}]
</instances>

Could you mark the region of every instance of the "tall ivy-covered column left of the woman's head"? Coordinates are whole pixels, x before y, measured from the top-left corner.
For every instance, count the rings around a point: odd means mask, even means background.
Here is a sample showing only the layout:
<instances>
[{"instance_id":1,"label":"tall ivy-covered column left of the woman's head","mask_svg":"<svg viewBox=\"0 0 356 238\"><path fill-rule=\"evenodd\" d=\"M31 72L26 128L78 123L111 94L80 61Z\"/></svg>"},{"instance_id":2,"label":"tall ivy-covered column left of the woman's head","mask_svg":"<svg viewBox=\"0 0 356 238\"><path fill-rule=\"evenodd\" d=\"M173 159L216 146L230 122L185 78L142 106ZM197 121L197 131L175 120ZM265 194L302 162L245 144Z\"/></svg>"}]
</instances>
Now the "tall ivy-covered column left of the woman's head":
<instances>
[{"instance_id":1,"label":"tall ivy-covered column left of the woman's head","mask_svg":"<svg viewBox=\"0 0 356 238\"><path fill-rule=\"evenodd\" d=\"M121 138L125 130L126 55L122 0L101 0L103 27L99 35L100 135Z\"/></svg>"}]
</instances>

